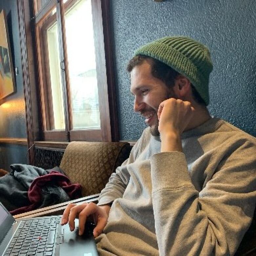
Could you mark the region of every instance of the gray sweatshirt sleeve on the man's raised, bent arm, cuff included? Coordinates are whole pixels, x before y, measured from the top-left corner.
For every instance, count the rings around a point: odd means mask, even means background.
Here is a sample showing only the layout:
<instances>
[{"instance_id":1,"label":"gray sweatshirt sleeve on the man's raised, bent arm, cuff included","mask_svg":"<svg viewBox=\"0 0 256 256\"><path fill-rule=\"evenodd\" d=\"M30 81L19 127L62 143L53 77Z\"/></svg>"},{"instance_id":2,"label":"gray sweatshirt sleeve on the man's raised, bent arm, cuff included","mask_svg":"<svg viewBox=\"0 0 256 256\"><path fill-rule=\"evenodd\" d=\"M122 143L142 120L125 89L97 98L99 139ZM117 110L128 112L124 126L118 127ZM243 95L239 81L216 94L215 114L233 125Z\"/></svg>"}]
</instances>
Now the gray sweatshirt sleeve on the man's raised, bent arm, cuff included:
<instances>
[{"instance_id":1,"label":"gray sweatshirt sleeve on the man's raised, bent arm, cuff included","mask_svg":"<svg viewBox=\"0 0 256 256\"><path fill-rule=\"evenodd\" d=\"M153 155L151 176L160 255L234 255L255 208L255 146L225 156L200 192L181 152Z\"/></svg>"}]
</instances>

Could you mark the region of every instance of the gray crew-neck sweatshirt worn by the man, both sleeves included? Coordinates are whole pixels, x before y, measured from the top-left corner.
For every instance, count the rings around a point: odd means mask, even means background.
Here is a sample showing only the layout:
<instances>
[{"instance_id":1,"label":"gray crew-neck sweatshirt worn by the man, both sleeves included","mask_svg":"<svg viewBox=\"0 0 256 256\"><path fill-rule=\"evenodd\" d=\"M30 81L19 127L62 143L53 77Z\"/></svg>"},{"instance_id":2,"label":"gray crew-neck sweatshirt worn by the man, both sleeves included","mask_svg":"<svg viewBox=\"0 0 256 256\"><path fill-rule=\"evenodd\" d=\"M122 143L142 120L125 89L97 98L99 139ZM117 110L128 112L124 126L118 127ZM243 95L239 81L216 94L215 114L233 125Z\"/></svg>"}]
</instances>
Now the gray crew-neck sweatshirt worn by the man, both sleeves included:
<instances>
[{"instance_id":1,"label":"gray crew-neck sweatshirt worn by the man, both sleeves included","mask_svg":"<svg viewBox=\"0 0 256 256\"><path fill-rule=\"evenodd\" d=\"M160 153L146 128L101 191L112 203L99 255L233 255L256 201L256 139L212 118Z\"/></svg>"}]
</instances>

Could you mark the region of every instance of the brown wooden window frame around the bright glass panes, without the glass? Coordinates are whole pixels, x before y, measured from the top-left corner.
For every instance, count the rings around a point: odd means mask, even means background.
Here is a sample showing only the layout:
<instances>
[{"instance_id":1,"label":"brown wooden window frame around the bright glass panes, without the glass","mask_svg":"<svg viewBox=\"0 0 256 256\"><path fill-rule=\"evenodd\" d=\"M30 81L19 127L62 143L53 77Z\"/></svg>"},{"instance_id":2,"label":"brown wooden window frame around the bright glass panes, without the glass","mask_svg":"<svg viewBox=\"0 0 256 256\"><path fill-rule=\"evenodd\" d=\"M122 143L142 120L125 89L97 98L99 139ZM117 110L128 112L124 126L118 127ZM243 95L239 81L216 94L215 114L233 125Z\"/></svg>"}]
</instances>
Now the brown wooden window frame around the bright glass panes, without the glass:
<instances>
[{"instance_id":1,"label":"brown wooden window frame around the bright glass panes, without the glass","mask_svg":"<svg viewBox=\"0 0 256 256\"><path fill-rule=\"evenodd\" d=\"M38 13L36 12L36 0L34 1L34 17L35 17L35 39L36 46L36 59L37 66L39 67L43 62L44 56L42 54L42 36L39 36L38 24L47 17L47 14L56 6L55 15L58 16L57 25L61 28L60 45L60 60L63 61L63 69L67 69L67 49L65 44L65 24L64 24L64 11L70 8L77 0L68 0L65 4L62 1L50 0L49 3ZM51 111L51 100L47 96L51 96L51 86L40 86L39 101L41 112L41 126L43 131L41 138L37 140L51 140L51 141L73 141L73 140L90 140L90 141L118 141L117 131L117 113L115 102L115 85L114 85L114 73L113 73L113 54L111 46L111 22L109 19L109 1L106 0L91 0L92 15L93 15L93 27L94 27L94 39L96 50L96 71L98 82L98 95L99 95L99 111L100 111L100 125L101 129L92 130L77 130L72 128L72 113L70 102L70 85L68 72L62 72L62 85L63 85L63 101L64 101L64 115L65 115L65 130L47 130L52 127L53 113ZM53 16L52 16L53 17ZM55 18L49 18L52 22ZM46 24L46 23L45 23ZM44 25L45 25L44 24ZM103 26L103 24L105 24ZM38 42L40 45L38 45ZM47 44L46 44L47 45ZM65 56L65 57L64 57ZM46 67L38 69L38 84L44 84L42 81L49 80L49 77L44 76L49 72L45 72ZM101 75L98 75L101 74ZM45 111L46 109L46 111Z\"/></svg>"}]
</instances>

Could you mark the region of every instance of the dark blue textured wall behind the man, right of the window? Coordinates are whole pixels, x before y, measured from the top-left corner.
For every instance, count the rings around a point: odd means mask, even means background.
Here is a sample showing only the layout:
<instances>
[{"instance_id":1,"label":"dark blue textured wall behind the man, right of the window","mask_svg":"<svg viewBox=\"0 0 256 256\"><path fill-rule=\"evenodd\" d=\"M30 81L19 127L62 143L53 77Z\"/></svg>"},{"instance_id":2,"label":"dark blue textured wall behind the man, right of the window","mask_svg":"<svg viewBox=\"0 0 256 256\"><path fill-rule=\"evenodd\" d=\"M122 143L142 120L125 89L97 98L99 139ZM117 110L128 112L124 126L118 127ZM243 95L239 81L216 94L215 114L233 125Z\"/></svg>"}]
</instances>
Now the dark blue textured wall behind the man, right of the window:
<instances>
[{"instance_id":1,"label":"dark blue textured wall behind the man, right of the window","mask_svg":"<svg viewBox=\"0 0 256 256\"><path fill-rule=\"evenodd\" d=\"M112 0L120 139L146 127L133 113L125 68L136 48L166 35L185 35L211 50L210 114L256 136L255 0Z\"/></svg>"}]
</instances>

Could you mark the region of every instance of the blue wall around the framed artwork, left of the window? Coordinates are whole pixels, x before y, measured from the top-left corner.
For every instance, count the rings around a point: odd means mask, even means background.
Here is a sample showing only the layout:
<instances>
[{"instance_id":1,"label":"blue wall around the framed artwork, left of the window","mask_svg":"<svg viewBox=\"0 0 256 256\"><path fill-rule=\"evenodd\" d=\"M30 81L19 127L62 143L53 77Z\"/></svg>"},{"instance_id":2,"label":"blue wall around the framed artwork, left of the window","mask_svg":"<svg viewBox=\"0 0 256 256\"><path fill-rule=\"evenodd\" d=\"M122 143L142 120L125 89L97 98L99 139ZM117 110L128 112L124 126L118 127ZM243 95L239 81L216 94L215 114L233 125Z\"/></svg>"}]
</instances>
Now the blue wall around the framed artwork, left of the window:
<instances>
[{"instance_id":1,"label":"blue wall around the framed artwork, left of the window","mask_svg":"<svg viewBox=\"0 0 256 256\"><path fill-rule=\"evenodd\" d=\"M12 61L19 74L15 77L16 93L0 105L0 138L27 138L21 48L16 0L0 0L0 11L7 17ZM0 168L9 170L11 163L25 163L26 146L0 144Z\"/></svg>"}]
</instances>

